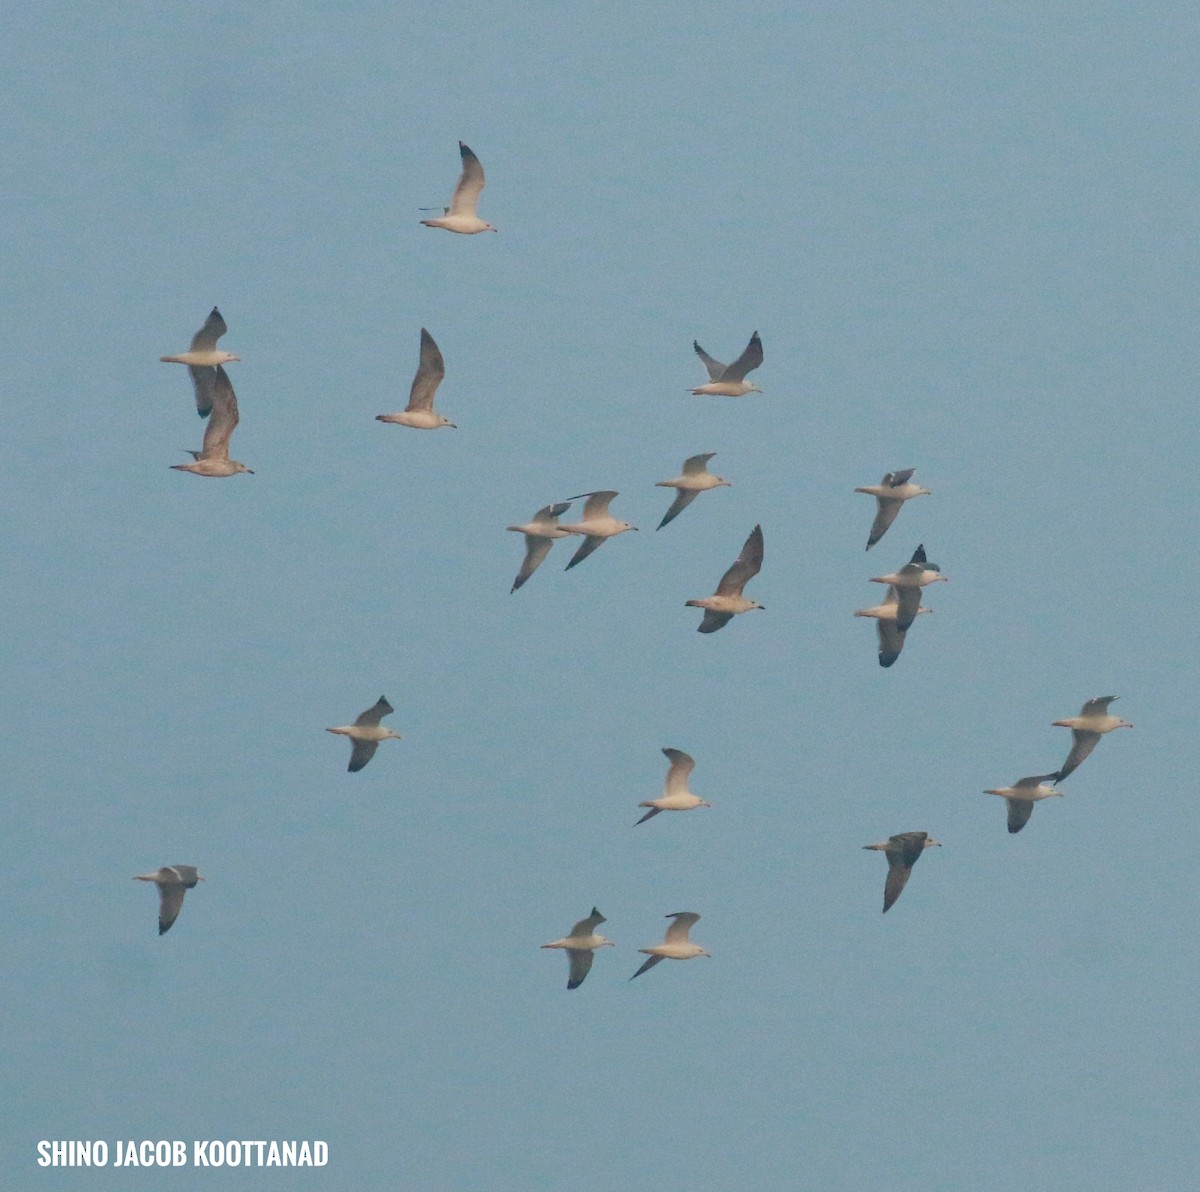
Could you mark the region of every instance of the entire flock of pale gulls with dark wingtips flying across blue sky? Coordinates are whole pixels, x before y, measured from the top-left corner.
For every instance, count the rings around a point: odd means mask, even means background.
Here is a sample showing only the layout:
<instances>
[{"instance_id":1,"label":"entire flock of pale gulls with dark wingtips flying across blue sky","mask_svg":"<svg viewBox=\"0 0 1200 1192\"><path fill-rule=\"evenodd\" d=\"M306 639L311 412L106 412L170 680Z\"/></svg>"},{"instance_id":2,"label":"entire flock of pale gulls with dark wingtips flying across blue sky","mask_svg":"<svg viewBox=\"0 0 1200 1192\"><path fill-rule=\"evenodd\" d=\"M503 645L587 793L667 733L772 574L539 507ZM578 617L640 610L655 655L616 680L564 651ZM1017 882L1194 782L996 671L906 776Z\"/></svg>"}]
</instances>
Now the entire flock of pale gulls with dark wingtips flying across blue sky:
<instances>
[{"instance_id":1,"label":"entire flock of pale gulls with dark wingtips flying across blue sky","mask_svg":"<svg viewBox=\"0 0 1200 1192\"><path fill-rule=\"evenodd\" d=\"M425 227L442 228L462 235L474 235L480 232L496 232L492 224L479 217L476 206L484 190L484 167L479 158L462 142L458 143L462 157L462 174L455 187L450 205L442 208L442 215L420 222ZM164 363L181 364L187 367L196 397L196 409L200 418L208 419L204 442L199 451L188 451L192 463L174 465L175 471L190 472L193 475L224 478L239 473L253 474L251 468L229 457L229 441L238 426L238 397L234 393L227 364L236 363L239 357L217 347L217 341L228 328L221 312L214 307L204 325L192 336L187 352L178 355L162 357ZM750 336L743 353L732 364L721 364L710 357L698 342L692 343L696 355L708 373L708 382L689 391L695 396L744 397L762 393L757 385L750 384L746 377L763 363L762 340L755 331ZM456 424L433 408L433 400L445 376L445 361L442 352L430 333L421 328L420 358L416 375L413 378L408 405L395 414L378 414L380 423L408 426L414 430L439 430ZM673 489L674 499L662 515L658 529L670 525L690 505L696 497L708 491L728 486L730 481L708 471L708 461L715 453L707 451L684 460L682 472L671 480L658 481L656 487ZM901 468L888 472L877 485L865 485L854 492L866 493L876 501L875 519L866 539L866 549L875 546L895 522L905 502L913 497L929 496L930 490L914 484L914 468ZM613 517L610 505L619 496L612 490L583 492L565 501L542 505L533 517L520 526L508 526L506 529L522 534L524 538L524 558L512 582L511 592L516 592L533 576L545 562L554 541L560 538L581 538L578 547L571 556L566 569L582 563L599 550L610 538L616 538L637 527ZM572 503L583 501L582 516L572 523L563 523L560 519ZM708 597L688 600L686 606L703 610L703 617L697 627L702 634L716 633L743 612L763 609L756 600L749 599L745 587L762 569L763 535L762 526L755 526L745 540L738 557L716 585L716 591ZM922 592L932 583L946 581L935 563L930 563L924 544L919 545L912 557L899 570L888 575L872 577L872 583L887 585L883 600L870 607L859 609L856 617L874 618L878 634L878 661L881 666L892 666L904 649L905 637L917 617L931 610L922 607ZM1084 703L1079 715L1052 721L1054 726L1070 729L1072 745L1067 760L1050 773L1019 778L1012 786L998 786L984 791L985 795L1001 796L1008 807L1008 831L1020 832L1033 814L1033 804L1045 798L1061 796L1054 787L1072 774L1092 753L1100 737L1115 729L1133 727L1128 721L1109 712L1115 695L1103 695ZM362 769L374 756L383 741L398 741L400 733L384 727L384 717L395 709L383 696L362 712L353 724L328 729L328 732L350 739L349 771ZM637 820L637 825L662 811L691 811L710 803L694 795L689 789L689 778L695 768L695 760L680 749L664 749L670 767L660 798L638 803L638 808L648 808ZM883 887L884 912L900 897L913 865L926 849L940 847L928 832L898 832L877 844L863 845L864 849L882 852L888 862L888 873ZM158 933L170 929L179 917L184 905L184 894L193 889L204 879L194 865L163 865L149 874L139 874L136 881L151 881L158 887ZM661 960L691 960L707 957L707 952L689 938L691 928L698 922L695 911L676 911L666 916L671 920L661 944L638 948L647 959L629 980L640 977ZM576 989L583 983L592 969L595 952L602 947L614 947L612 940L596 933L596 928L606 922L604 915L593 906L592 914L580 920L571 930L559 940L544 944L544 948L563 950L570 965L568 989Z\"/></svg>"}]
</instances>

